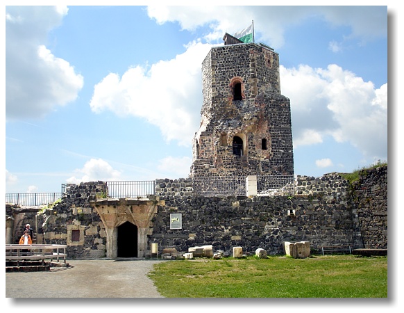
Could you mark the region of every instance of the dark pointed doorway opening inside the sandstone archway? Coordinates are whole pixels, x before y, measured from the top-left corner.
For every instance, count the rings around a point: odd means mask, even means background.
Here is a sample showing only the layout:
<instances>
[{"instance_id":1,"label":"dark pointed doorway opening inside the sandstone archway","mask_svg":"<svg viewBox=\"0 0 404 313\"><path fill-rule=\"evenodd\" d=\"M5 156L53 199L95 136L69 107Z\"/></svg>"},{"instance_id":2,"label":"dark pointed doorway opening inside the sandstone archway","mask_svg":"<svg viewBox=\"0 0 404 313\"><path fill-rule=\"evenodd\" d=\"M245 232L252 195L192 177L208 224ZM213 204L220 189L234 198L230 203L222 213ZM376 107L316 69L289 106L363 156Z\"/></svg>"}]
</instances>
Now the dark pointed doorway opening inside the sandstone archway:
<instances>
[{"instance_id":1,"label":"dark pointed doorway opening inside the sandstone archway","mask_svg":"<svg viewBox=\"0 0 404 313\"><path fill-rule=\"evenodd\" d=\"M125 222L118 227L118 257L137 257L137 226Z\"/></svg>"}]
</instances>

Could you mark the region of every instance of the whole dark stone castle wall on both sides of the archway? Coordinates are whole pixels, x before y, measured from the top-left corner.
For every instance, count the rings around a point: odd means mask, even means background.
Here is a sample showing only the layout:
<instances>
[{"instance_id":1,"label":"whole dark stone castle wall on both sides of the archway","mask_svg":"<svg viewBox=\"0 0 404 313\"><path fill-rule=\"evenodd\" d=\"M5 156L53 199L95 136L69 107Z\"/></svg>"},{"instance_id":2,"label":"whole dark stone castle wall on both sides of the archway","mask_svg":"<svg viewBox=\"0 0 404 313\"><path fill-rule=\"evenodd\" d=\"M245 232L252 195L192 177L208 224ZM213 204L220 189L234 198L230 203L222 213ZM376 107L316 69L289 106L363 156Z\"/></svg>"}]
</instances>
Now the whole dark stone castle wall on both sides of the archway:
<instances>
[{"instance_id":1,"label":"whole dark stone castle wall on both sides of the archway","mask_svg":"<svg viewBox=\"0 0 404 313\"><path fill-rule=\"evenodd\" d=\"M106 257L106 229L90 205L96 190L106 191L99 183L71 185L61 202L45 210L8 204L6 220L18 225L37 220L38 243L67 244L69 258ZM157 179L155 191L160 200L146 246L158 243L159 253L212 244L214 250L242 246L274 255L283 253L283 241L302 240L310 241L312 250L339 244L387 248L387 166L362 172L352 186L336 173L298 176L295 193L287 195L194 196L191 179ZM181 214L180 229L170 229L170 214ZM80 241L71 240L72 230L81 232Z\"/></svg>"}]
</instances>

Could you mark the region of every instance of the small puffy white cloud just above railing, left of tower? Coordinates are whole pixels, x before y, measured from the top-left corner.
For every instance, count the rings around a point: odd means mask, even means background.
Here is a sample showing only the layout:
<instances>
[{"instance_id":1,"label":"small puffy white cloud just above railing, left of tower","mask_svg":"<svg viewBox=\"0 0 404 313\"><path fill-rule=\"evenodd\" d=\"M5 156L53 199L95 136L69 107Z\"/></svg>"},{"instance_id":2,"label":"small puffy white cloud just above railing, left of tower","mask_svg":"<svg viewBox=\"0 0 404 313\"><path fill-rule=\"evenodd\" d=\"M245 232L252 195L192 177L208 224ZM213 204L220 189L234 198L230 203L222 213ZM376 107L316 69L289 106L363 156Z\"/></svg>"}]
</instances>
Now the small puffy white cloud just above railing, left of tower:
<instances>
[{"instance_id":1,"label":"small puffy white cloud just above railing, left of tower","mask_svg":"<svg viewBox=\"0 0 404 313\"><path fill-rule=\"evenodd\" d=\"M113 182L121 180L121 173L114 170L112 166L103 159L90 159L83 168L75 170L76 175L67 179L69 184L80 182L93 182L101 180L103 182Z\"/></svg>"}]
</instances>

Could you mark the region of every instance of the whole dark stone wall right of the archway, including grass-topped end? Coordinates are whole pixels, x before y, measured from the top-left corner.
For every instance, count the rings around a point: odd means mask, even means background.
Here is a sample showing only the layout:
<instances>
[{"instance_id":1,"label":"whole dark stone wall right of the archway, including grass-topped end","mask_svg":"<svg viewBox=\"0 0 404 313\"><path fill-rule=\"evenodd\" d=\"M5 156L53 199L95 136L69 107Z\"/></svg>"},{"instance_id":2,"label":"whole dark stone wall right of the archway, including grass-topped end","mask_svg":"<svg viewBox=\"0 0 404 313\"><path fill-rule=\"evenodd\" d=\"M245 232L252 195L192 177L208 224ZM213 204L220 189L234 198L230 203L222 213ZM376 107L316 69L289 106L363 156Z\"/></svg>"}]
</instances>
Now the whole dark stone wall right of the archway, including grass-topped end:
<instances>
[{"instance_id":1,"label":"whole dark stone wall right of the archway, including grass-topped end","mask_svg":"<svg viewBox=\"0 0 404 313\"><path fill-rule=\"evenodd\" d=\"M294 195L247 198L183 196L192 192L190 179L156 181L165 206L158 207L150 241L183 251L212 244L228 252L233 246L249 252L264 248L272 255L283 252L283 241L310 241L313 250L335 245L382 248L379 241L387 247L387 167L370 170L360 182L352 191L337 173L298 176ZM180 230L170 229L173 213L182 216Z\"/></svg>"}]
</instances>

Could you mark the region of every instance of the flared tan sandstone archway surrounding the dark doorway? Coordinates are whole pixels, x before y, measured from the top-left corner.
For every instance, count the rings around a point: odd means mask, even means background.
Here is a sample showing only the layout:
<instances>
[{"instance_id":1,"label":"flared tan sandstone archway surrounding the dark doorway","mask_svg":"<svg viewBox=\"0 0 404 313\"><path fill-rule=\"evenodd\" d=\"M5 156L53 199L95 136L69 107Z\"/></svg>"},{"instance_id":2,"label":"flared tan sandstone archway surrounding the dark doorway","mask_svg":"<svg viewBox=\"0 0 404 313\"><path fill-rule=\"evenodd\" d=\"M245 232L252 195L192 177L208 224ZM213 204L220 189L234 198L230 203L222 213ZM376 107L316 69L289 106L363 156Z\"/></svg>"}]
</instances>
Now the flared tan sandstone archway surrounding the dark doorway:
<instances>
[{"instance_id":1,"label":"flared tan sandstone archway surrounding the dark doorway","mask_svg":"<svg viewBox=\"0 0 404 313\"><path fill-rule=\"evenodd\" d=\"M144 257L148 250L147 235L152 232L151 219L157 213L160 198L149 195L149 198L138 199L97 199L90 201L96 209L106 229L106 256L118 257L119 226L132 223L137 227L137 257ZM129 227L131 227L129 225ZM134 230L134 228L132 228Z\"/></svg>"}]
</instances>

